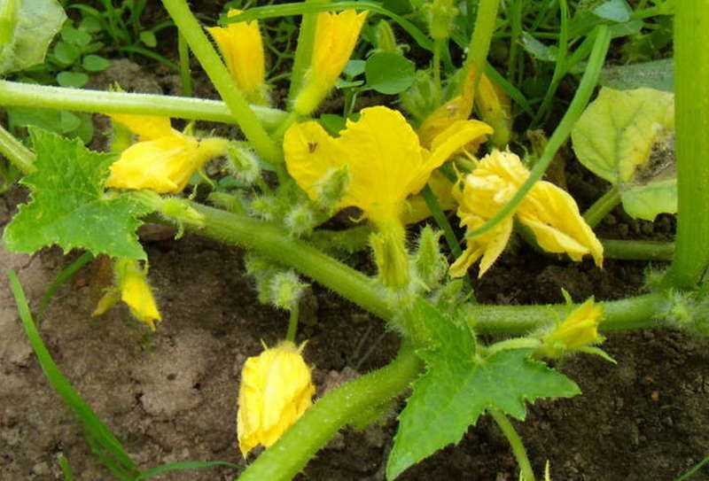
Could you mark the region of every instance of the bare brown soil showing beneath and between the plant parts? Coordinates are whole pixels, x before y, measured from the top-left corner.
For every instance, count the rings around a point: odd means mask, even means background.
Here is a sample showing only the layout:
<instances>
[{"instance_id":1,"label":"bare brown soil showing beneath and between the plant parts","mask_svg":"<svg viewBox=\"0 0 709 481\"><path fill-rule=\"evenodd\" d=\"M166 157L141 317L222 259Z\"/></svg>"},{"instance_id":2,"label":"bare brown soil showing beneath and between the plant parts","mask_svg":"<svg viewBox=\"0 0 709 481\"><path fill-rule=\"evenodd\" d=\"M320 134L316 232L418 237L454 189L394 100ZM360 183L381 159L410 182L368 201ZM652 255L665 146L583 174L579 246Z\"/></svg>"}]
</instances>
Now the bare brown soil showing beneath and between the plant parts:
<instances>
[{"instance_id":1,"label":"bare brown soil showing beneath and between the plant parts","mask_svg":"<svg viewBox=\"0 0 709 481\"><path fill-rule=\"evenodd\" d=\"M169 74L152 77L119 64L97 85L119 80L130 90L174 93ZM121 75L121 72L124 73ZM131 72L133 72L131 74ZM116 78L116 75L119 78ZM144 85L128 86L141 81ZM200 97L214 92L198 82ZM102 141L97 139L96 146ZM574 197L588 205L601 188L569 167ZM23 201L23 190L0 198L0 225ZM607 237L671 237L674 223L635 222L619 209L600 226ZM41 333L60 369L123 441L141 468L181 460L224 460L245 466L236 446L239 372L247 356L284 336L286 314L256 300L243 252L199 237L146 242L152 284L164 322L153 335L117 307L90 317L97 301L95 269L83 268L48 309ZM48 283L74 258L51 249L35 256L0 250L0 269L19 271L33 306ZM558 302L564 287L574 299L618 299L642 289L644 262L573 264L513 244L476 283L482 302ZM323 385L376 369L392 359L398 339L382 322L316 284L312 315L299 336ZM354 346L354 348L353 348ZM372 347L373 346L373 347ZM549 460L555 480L672 480L709 453L709 343L674 331L612 334L604 349L618 366L580 356L560 368L583 395L538 402L516 423L534 469ZM396 428L391 413L364 431L345 430L308 464L302 479L384 479ZM61 478L57 454L79 480L109 476L90 455L82 432L43 377L27 343L7 283L0 280L0 479ZM517 467L506 440L487 417L458 446L433 455L401 479L514 481ZM162 479L232 479L233 469L171 474ZM709 470L693 479L709 480Z\"/></svg>"}]
</instances>

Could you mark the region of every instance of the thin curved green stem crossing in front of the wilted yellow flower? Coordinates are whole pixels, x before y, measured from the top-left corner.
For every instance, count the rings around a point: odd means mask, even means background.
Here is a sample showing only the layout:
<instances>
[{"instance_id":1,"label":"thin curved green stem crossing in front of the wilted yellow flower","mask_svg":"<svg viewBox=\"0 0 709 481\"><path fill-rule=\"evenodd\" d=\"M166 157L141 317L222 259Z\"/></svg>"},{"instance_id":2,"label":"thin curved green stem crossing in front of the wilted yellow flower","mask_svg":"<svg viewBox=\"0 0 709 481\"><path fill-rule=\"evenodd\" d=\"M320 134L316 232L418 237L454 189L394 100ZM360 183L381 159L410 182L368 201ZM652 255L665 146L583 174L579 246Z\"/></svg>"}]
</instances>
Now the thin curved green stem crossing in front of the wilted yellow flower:
<instances>
[{"instance_id":1,"label":"thin curved green stem crossing in front of the wilted yellow flower","mask_svg":"<svg viewBox=\"0 0 709 481\"><path fill-rule=\"evenodd\" d=\"M482 226L468 232L467 237L478 237L486 233L489 229L494 228L500 221L503 221L503 219L519 206L519 203L525 198L527 192L532 189L534 183L539 181L541 176L544 175L547 167L549 167L549 163L554 159L554 156L562 144L565 143L566 139L571 134L573 125L576 123L576 120L579 120L583 109L586 108L588 100L593 94L593 90L596 88L598 74L601 73L605 54L610 44L611 33L608 27L604 25L597 27L596 41L593 46L593 51L591 52L591 57L588 59L586 72L581 78L579 89L576 90L576 95L573 96L572 103L569 105L569 109L564 114L561 122L559 122L556 130L554 130L554 134L549 138L549 143L541 154L541 159L534 165L526 182L522 184L522 187L518 189L514 197Z\"/></svg>"}]
</instances>

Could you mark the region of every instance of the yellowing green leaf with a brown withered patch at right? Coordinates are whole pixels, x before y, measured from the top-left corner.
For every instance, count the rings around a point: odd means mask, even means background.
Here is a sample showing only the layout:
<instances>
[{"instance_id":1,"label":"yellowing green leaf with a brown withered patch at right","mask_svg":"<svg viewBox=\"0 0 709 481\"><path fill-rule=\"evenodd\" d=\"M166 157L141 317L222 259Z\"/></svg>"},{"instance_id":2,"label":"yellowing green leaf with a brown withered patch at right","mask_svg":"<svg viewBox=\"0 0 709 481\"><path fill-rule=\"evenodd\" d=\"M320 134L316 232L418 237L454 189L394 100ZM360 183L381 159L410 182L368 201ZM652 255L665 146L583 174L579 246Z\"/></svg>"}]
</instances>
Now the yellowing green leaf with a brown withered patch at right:
<instances>
[{"instance_id":1,"label":"yellowing green leaf with a brown withered patch at right","mask_svg":"<svg viewBox=\"0 0 709 481\"><path fill-rule=\"evenodd\" d=\"M601 89L572 131L581 164L618 186L627 213L675 213L674 95Z\"/></svg>"}]
</instances>

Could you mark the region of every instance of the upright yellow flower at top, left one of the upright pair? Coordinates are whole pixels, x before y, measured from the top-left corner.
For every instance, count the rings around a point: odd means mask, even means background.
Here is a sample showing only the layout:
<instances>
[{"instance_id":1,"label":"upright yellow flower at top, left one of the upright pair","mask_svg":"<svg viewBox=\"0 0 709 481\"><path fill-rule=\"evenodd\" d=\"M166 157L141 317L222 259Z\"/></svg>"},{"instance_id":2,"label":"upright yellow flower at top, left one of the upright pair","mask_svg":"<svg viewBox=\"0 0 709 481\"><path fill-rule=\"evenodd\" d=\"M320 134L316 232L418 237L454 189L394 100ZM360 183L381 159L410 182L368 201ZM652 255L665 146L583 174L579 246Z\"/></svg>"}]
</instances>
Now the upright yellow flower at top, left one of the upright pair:
<instances>
[{"instance_id":1,"label":"upright yellow flower at top, left one of the upright pair","mask_svg":"<svg viewBox=\"0 0 709 481\"><path fill-rule=\"evenodd\" d=\"M240 10L231 9L228 16L239 13ZM232 78L245 97L254 104L268 104L266 60L259 23L256 20L236 22L207 30L214 37Z\"/></svg>"}]
</instances>

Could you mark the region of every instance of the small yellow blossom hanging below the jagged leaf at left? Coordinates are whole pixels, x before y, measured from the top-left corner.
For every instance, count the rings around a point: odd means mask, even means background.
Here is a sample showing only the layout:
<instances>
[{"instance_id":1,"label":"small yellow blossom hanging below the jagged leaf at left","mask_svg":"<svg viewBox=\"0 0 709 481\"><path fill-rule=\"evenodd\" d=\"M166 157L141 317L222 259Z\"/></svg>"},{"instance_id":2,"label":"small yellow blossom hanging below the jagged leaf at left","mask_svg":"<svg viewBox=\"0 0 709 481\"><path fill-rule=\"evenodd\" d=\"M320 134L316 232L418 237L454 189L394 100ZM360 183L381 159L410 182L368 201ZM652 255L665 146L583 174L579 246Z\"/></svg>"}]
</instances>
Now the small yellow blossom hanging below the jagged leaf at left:
<instances>
[{"instance_id":1,"label":"small yellow blossom hanging below the jagged leaf at left","mask_svg":"<svg viewBox=\"0 0 709 481\"><path fill-rule=\"evenodd\" d=\"M129 259L116 260L113 270L116 276L116 289L107 291L99 299L92 315L104 314L118 302L120 296L138 321L155 330L155 322L160 321L162 317L147 282L147 270L136 260Z\"/></svg>"}]
</instances>

